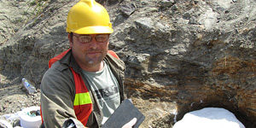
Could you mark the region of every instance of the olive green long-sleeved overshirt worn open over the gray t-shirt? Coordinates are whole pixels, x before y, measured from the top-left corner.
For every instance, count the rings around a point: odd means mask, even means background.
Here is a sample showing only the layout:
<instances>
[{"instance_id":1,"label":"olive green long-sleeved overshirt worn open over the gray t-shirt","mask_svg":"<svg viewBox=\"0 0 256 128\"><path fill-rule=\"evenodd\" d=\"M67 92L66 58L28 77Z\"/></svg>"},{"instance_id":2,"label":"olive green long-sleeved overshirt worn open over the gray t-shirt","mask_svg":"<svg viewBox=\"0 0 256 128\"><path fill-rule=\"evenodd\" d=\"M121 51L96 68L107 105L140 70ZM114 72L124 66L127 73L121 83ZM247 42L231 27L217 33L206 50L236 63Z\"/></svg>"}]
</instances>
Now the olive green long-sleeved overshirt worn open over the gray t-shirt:
<instances>
[{"instance_id":1,"label":"olive green long-sleeved overshirt worn open over the gray t-shirt","mask_svg":"<svg viewBox=\"0 0 256 128\"><path fill-rule=\"evenodd\" d=\"M125 63L112 55L107 55L104 58L107 62L114 76L119 82L119 93L121 101L125 99L124 94L124 77L125 77ZM67 55L63 56L60 61L56 61L50 67L41 82L41 109L45 127L61 127L65 120L76 119L73 110L73 101L76 94L73 73L70 70L79 73L84 79L84 84L90 92L90 97L93 105L93 112L90 113L87 125L88 127L100 127L102 124L102 110L96 102L96 96L90 90L90 84L84 78L83 73L74 60L71 50ZM75 122L80 123L79 120ZM80 123L81 124L81 123Z\"/></svg>"}]
</instances>

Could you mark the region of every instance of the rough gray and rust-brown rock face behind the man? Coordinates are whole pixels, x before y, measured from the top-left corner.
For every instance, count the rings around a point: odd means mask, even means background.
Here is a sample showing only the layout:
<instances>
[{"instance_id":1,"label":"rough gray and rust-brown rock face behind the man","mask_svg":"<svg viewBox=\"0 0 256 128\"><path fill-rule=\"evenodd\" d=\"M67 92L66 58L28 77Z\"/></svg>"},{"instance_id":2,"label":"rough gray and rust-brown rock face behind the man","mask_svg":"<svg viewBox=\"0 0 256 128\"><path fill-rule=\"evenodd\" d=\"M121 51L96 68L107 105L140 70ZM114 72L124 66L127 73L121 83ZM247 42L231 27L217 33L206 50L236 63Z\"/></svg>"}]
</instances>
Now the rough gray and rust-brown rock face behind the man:
<instances>
[{"instance_id":1,"label":"rough gray and rust-brown rock face behind the man","mask_svg":"<svg viewBox=\"0 0 256 128\"><path fill-rule=\"evenodd\" d=\"M184 113L205 107L226 108L247 128L255 127L254 0L101 2L113 22L109 49L126 64L127 96L146 115L142 127L170 127ZM37 88L49 59L69 47L66 18L76 2L44 3L36 20L24 26L8 11L24 10L24 1L3 1L1 14L7 15L0 17L10 25L1 26L1 74L20 74ZM120 7L131 3L134 12L125 15Z\"/></svg>"}]
</instances>

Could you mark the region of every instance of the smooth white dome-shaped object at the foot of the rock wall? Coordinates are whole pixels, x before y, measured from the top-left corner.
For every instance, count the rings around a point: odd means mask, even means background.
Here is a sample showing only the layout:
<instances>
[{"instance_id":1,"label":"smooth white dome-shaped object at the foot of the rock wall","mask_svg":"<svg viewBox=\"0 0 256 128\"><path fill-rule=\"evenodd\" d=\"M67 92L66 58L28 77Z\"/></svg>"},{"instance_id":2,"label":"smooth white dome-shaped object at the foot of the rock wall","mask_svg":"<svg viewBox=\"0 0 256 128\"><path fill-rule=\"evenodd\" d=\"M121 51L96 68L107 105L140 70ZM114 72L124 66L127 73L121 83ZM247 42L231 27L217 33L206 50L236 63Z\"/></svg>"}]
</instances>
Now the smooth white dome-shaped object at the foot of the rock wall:
<instances>
[{"instance_id":1,"label":"smooth white dome-shaped object at the foot of the rock wall","mask_svg":"<svg viewBox=\"0 0 256 128\"><path fill-rule=\"evenodd\" d=\"M202 108L186 113L172 128L245 128L224 108Z\"/></svg>"}]
</instances>

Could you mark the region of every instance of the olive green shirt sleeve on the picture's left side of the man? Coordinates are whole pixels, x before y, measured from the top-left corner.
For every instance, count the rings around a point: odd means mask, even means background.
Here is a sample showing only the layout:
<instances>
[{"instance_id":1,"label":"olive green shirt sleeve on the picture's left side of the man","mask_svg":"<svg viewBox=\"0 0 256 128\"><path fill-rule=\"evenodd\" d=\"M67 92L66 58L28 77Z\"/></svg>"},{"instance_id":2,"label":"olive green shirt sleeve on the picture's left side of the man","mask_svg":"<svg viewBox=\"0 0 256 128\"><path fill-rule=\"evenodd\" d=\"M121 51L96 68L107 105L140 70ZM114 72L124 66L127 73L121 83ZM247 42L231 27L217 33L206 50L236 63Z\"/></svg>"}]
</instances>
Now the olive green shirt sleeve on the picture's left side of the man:
<instances>
[{"instance_id":1,"label":"olive green shirt sleeve on the picture's left side of the man","mask_svg":"<svg viewBox=\"0 0 256 128\"><path fill-rule=\"evenodd\" d=\"M40 85L45 127L61 127L67 119L76 119L73 110L75 87L68 71L63 72L49 68Z\"/></svg>"}]
</instances>

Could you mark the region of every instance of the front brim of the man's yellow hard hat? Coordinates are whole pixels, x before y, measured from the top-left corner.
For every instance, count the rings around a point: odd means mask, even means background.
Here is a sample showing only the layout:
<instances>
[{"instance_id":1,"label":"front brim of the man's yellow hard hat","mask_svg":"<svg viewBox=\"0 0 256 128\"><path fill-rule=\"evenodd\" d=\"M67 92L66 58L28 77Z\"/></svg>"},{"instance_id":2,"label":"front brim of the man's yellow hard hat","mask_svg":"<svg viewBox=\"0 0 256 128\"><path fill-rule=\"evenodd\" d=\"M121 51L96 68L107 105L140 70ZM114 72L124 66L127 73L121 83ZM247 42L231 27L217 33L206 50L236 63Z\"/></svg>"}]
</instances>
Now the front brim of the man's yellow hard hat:
<instances>
[{"instance_id":1,"label":"front brim of the man's yellow hard hat","mask_svg":"<svg viewBox=\"0 0 256 128\"><path fill-rule=\"evenodd\" d=\"M77 34L101 34L101 33L113 33L113 29L109 26L87 26L75 31L67 31L74 32Z\"/></svg>"}]
</instances>

